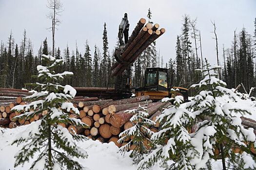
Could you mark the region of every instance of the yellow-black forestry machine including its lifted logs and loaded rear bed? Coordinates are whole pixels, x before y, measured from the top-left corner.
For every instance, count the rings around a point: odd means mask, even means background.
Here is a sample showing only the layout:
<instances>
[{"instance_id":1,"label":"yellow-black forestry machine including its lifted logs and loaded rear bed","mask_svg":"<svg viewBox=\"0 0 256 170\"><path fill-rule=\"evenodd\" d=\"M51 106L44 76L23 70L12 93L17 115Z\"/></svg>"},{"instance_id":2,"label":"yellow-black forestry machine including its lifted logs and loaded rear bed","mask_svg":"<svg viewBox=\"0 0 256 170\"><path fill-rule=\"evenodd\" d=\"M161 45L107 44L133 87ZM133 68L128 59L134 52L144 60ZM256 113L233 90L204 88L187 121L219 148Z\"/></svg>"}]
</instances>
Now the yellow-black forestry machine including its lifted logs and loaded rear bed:
<instances>
[{"instance_id":1,"label":"yellow-black forestry machine including its lifted logs and loaded rear bed","mask_svg":"<svg viewBox=\"0 0 256 170\"><path fill-rule=\"evenodd\" d=\"M129 22L126 13L121 20L118 31L119 47L115 50L117 62L110 69L111 76L115 77L115 88L109 88L109 83L107 83L107 88L75 87L77 96L114 100L132 96L132 90L134 90L131 81L132 64L142 51L165 32L164 28L159 29L158 24L153 26L151 23L146 25L145 23L146 20L141 18L129 37ZM150 99L158 101L165 97L182 95L184 101L188 101L188 89L172 86L173 81L172 78L171 82L168 80L168 74L167 68L146 68L144 86L135 88L136 97L149 95ZM171 88L178 89L178 92L171 92Z\"/></svg>"}]
</instances>

